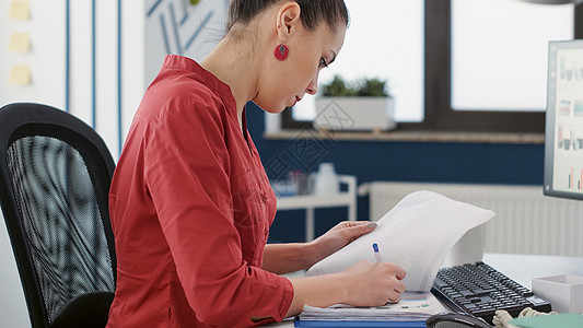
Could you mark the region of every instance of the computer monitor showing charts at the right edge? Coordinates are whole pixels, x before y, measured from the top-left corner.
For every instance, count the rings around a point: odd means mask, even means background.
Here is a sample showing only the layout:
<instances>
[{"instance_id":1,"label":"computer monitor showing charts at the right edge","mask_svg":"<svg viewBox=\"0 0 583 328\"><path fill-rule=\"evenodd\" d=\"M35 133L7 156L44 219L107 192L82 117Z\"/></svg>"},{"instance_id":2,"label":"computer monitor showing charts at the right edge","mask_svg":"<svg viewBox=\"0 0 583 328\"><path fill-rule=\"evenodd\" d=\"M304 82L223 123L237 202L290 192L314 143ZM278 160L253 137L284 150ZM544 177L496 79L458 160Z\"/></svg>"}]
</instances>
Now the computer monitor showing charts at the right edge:
<instances>
[{"instance_id":1,"label":"computer monitor showing charts at the right edge","mask_svg":"<svg viewBox=\"0 0 583 328\"><path fill-rule=\"evenodd\" d=\"M544 194L583 199L583 40L550 42Z\"/></svg>"}]
</instances>

